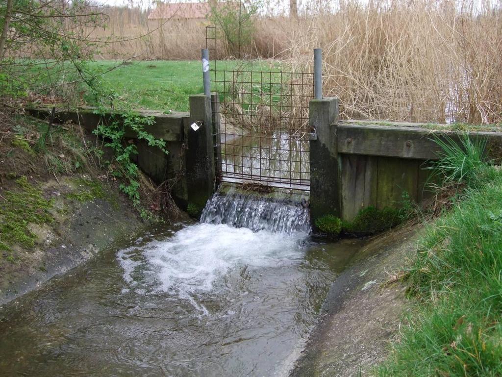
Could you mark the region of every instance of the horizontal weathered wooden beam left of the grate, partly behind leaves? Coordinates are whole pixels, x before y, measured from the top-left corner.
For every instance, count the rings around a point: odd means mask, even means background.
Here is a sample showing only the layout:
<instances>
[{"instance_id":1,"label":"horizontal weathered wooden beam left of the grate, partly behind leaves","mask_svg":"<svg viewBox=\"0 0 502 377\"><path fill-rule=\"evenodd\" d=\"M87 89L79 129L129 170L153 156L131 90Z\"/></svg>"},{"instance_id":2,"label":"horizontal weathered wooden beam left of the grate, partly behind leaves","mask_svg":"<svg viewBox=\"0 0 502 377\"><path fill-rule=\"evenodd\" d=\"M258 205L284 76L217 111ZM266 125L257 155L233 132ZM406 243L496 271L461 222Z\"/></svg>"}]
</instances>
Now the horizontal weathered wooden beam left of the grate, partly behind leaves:
<instances>
[{"instance_id":1,"label":"horizontal weathered wooden beam left of the grate, partly behind leaves","mask_svg":"<svg viewBox=\"0 0 502 377\"><path fill-rule=\"evenodd\" d=\"M66 122L71 120L75 124L80 124L82 128L92 132L100 121L110 123L112 121L123 121L123 115L118 112L109 111L104 115L94 113L93 108L85 107L75 110L57 110L54 120L57 122ZM36 108L27 109L28 113L41 119L49 119L51 117L51 109ZM181 141L183 130L183 118L188 117L188 112L172 112L163 114L161 111L137 111L143 116L153 116L155 123L147 125L145 131L152 134L155 138L164 141ZM126 130L126 138L136 139L136 132Z\"/></svg>"}]
</instances>

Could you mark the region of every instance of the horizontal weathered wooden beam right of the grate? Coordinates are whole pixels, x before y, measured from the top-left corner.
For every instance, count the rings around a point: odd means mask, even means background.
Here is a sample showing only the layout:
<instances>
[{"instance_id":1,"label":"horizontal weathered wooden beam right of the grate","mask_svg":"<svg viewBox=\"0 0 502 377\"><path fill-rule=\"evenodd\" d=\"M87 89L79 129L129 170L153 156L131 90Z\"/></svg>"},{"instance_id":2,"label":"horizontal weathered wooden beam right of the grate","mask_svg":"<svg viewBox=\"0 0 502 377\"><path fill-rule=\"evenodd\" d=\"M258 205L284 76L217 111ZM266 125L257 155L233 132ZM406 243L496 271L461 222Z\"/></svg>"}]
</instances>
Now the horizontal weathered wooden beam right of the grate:
<instances>
[{"instance_id":1,"label":"horizontal weathered wooden beam right of the grate","mask_svg":"<svg viewBox=\"0 0 502 377\"><path fill-rule=\"evenodd\" d=\"M338 122L338 153L438 160L441 148L434 137L459 137L455 132L432 131L419 127L420 123L410 124L412 125ZM499 132L471 132L470 135L473 138L487 138L488 144L502 145L502 133Z\"/></svg>"}]
</instances>

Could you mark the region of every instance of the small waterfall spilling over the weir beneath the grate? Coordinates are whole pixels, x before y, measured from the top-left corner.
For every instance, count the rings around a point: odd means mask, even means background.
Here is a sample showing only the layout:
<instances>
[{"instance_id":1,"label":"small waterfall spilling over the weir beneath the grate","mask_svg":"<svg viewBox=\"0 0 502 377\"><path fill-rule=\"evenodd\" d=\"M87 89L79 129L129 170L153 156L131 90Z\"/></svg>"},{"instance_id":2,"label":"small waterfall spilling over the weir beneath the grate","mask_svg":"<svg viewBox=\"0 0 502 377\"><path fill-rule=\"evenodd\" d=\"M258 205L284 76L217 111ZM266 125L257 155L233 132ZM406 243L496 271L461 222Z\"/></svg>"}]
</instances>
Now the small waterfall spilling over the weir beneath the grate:
<instances>
[{"instance_id":1,"label":"small waterfall spilling over the weir beneath the grate","mask_svg":"<svg viewBox=\"0 0 502 377\"><path fill-rule=\"evenodd\" d=\"M261 195L222 186L206 203L200 221L253 231L309 233L308 196L285 191Z\"/></svg>"}]
</instances>

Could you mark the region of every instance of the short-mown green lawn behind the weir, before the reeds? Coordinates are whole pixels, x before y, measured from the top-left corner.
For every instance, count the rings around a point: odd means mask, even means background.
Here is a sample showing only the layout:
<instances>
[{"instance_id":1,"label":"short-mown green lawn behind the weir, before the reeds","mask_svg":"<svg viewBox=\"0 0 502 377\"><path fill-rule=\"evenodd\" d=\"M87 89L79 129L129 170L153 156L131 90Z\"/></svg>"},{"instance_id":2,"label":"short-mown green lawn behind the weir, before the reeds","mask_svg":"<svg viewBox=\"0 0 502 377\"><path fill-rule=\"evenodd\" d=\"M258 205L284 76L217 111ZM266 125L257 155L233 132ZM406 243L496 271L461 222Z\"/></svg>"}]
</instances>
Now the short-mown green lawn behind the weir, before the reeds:
<instances>
[{"instance_id":1,"label":"short-mown green lawn behind the weir, before the reeds","mask_svg":"<svg viewBox=\"0 0 502 377\"><path fill-rule=\"evenodd\" d=\"M84 85L77 74L75 67L70 62L58 61L33 61L23 60L17 64L21 71L20 76L37 95L56 94L60 98L80 98L88 105L93 105L93 100L88 94L89 88ZM84 65L86 71L96 75L97 81L121 99L128 102L133 109L151 109L161 111L188 111L189 96L203 92L202 87L202 64L198 60L192 61L112 61L98 60L87 62ZM231 81L232 76L239 83L243 81L244 91L260 95L258 92L265 91L277 94L280 87L278 81L286 82L288 75L269 75L260 72L281 72L285 64L279 61L240 61L225 60L212 61L210 69L218 70L216 79L221 80L223 74L225 80ZM226 72L222 72L225 70ZM235 76L231 71L253 70L253 77L249 73ZM90 77L87 75L87 77ZM238 77L238 78L237 78ZM215 72L211 72L212 87L214 91ZM267 83L267 80L269 83ZM77 82L73 92L67 90L67 83ZM253 84L250 84L252 82ZM258 85L258 83L261 83ZM223 91L223 84L218 83L218 92ZM235 91L235 87L226 85L224 91ZM273 97L273 96L272 96ZM249 100L248 102L252 102Z\"/></svg>"}]
</instances>

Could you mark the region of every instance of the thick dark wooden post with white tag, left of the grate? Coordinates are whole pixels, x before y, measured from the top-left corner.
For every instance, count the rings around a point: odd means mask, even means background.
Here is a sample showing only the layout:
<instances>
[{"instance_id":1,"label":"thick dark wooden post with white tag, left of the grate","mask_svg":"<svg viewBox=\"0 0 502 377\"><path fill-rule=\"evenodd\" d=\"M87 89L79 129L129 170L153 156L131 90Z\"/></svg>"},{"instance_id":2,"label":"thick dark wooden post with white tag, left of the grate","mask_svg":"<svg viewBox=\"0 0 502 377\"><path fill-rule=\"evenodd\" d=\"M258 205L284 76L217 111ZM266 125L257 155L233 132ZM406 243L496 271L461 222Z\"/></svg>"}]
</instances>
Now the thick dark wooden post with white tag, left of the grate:
<instances>
[{"instance_id":1,"label":"thick dark wooden post with white tag, left of the grate","mask_svg":"<svg viewBox=\"0 0 502 377\"><path fill-rule=\"evenodd\" d=\"M188 206L194 214L200 214L215 190L211 116L211 97L191 95L190 117L184 124L184 135ZM196 123L195 127L192 127L193 123Z\"/></svg>"}]
</instances>

